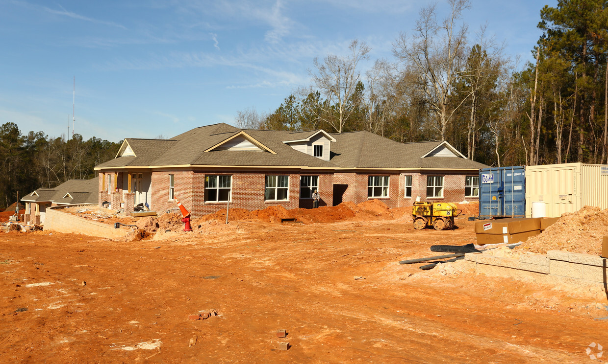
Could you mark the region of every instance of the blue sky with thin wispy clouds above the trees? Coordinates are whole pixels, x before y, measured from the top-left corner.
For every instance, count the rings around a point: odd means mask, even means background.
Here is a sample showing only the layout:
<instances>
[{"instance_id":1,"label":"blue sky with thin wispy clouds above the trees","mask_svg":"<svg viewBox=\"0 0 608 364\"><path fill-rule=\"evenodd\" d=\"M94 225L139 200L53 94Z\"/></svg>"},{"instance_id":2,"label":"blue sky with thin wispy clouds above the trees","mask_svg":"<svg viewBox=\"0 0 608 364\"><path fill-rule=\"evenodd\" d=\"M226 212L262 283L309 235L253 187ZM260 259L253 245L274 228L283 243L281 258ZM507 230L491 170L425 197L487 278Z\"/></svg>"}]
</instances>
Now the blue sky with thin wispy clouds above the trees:
<instances>
[{"instance_id":1,"label":"blue sky with thin wispy clouds above the trees","mask_svg":"<svg viewBox=\"0 0 608 364\"><path fill-rule=\"evenodd\" d=\"M352 39L370 61L392 60L430 1L0 0L0 123L22 133L67 133L76 79L77 133L120 141L168 138L233 123L238 110L274 110L309 84L313 58L344 54ZM447 3L438 1L440 12ZM556 1L472 1L480 25L531 60L541 8Z\"/></svg>"}]
</instances>

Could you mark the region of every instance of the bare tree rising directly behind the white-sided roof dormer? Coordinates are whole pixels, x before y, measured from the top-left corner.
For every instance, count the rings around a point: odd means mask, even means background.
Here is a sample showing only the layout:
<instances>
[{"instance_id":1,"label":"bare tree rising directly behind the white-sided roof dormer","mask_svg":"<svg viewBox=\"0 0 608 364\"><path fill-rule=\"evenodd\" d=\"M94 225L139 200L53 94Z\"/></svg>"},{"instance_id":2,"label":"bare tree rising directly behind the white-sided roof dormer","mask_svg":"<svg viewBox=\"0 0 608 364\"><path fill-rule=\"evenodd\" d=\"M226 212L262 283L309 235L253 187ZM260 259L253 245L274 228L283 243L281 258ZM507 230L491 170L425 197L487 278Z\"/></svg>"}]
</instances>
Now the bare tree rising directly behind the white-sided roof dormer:
<instances>
[{"instance_id":1,"label":"bare tree rising directly behind the white-sided roof dormer","mask_svg":"<svg viewBox=\"0 0 608 364\"><path fill-rule=\"evenodd\" d=\"M361 79L358 70L359 62L368 59L367 53L370 47L365 42L354 39L348 46L350 53L347 56L328 55L319 61L315 58L314 70L309 70L313 86L300 90L305 98L314 89L319 90L325 98L317 99L318 102L309 104L309 111L316 113L317 118L333 127L341 133L349 116L361 103L361 99L355 95L357 83Z\"/></svg>"}]
</instances>

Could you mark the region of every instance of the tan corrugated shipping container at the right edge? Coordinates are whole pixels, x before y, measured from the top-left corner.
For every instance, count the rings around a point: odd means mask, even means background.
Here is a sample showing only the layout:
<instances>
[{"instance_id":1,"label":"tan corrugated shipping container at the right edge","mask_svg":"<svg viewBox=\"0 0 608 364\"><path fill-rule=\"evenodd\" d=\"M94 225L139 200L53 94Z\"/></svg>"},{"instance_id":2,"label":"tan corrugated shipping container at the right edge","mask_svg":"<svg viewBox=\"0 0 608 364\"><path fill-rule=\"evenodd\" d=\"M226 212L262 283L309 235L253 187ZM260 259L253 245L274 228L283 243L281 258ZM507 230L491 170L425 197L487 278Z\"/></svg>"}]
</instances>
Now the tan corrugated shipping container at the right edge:
<instances>
[{"instance_id":1,"label":"tan corrugated shipping container at the right edge","mask_svg":"<svg viewBox=\"0 0 608 364\"><path fill-rule=\"evenodd\" d=\"M526 167L526 217L544 201L545 216L559 217L582 206L608 208L608 166L564 163Z\"/></svg>"}]
</instances>

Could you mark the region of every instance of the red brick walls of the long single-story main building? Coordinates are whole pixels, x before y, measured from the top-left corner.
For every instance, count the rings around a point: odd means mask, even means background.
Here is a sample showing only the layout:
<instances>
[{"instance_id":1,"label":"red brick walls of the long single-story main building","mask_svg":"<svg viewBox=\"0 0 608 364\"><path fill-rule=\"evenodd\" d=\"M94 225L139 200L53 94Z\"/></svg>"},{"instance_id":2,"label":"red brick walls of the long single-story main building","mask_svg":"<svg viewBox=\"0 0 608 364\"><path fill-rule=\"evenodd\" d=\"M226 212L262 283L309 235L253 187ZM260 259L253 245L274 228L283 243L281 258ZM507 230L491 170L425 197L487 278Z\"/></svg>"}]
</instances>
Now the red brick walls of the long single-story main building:
<instances>
[{"instance_id":1,"label":"red brick walls of the long single-story main building","mask_svg":"<svg viewBox=\"0 0 608 364\"><path fill-rule=\"evenodd\" d=\"M378 198L389 207L412 206L416 196L421 201L432 202L458 202L465 200L465 175L450 173L361 173L361 172L331 172L325 173L302 173L301 170L276 170L271 173L258 173L255 170L179 170L179 171L154 171L151 174L151 206L150 209L163 214L169 209L177 208L176 200L169 200L169 175L174 175L174 197L190 211L192 218L212 214L226 209L226 202L204 201L204 186L206 175L230 175L232 176L230 208L247 209L249 211L264 209L268 206L283 206L286 209L297 207L310 208L313 201L300 199L300 175L319 175L319 193L321 195L320 206L332 206L334 198L334 184L348 185L342 201L362 203L368 200L367 187L370 175L389 176L389 197ZM108 176L106 173L106 186ZM126 175L126 172L125 172ZM288 201L265 201L264 200L264 178L266 175L289 175ZM412 176L412 197L405 197L406 175ZM443 176L443 197L427 198L426 182L429 175ZM103 201L111 201L112 208L118 209L120 202L126 206L133 205L133 194L124 194L122 190L123 172L118 174L117 190L108 194L103 190L102 174L100 174L100 204ZM114 186L112 180L112 186ZM107 187L106 187L107 188ZM124 201L123 201L124 198ZM469 201L477 201L478 198L466 198Z\"/></svg>"}]
</instances>

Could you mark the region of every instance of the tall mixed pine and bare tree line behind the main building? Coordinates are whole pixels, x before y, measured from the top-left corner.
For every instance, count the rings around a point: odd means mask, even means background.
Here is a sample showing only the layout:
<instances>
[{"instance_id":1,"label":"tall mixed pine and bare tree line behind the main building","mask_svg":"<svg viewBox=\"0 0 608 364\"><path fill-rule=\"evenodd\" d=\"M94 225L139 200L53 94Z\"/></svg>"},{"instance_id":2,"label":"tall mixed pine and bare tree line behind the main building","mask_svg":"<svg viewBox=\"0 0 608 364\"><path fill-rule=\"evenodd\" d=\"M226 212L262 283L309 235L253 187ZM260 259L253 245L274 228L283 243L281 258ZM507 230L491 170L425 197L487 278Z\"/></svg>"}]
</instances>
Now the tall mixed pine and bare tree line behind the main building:
<instances>
[{"instance_id":1,"label":"tall mixed pine and bare tree line behind the main building","mask_svg":"<svg viewBox=\"0 0 608 364\"><path fill-rule=\"evenodd\" d=\"M422 8L411 32L393 42L393 58L375 60L364 75L371 49L354 40L347 55L315 58L311 84L277 109L246 109L235 123L447 140L491 166L606 163L608 1L545 5L534 62L522 66L483 27L469 31L469 0L448 3L443 19L435 5Z\"/></svg>"}]
</instances>

